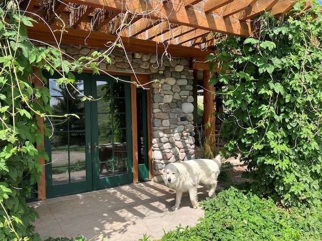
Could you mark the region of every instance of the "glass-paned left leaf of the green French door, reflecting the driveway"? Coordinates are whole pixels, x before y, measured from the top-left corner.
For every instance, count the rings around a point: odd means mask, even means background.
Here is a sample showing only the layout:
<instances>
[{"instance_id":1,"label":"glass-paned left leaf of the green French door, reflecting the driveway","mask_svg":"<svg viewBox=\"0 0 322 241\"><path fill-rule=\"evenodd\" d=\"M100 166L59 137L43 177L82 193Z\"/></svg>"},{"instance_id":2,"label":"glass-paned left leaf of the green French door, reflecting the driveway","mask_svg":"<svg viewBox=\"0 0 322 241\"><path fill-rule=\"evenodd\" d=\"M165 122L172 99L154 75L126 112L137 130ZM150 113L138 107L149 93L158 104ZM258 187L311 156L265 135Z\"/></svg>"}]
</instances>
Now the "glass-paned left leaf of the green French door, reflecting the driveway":
<instances>
[{"instance_id":1,"label":"glass-paned left leaf of the green French door, reflecting the driveway","mask_svg":"<svg viewBox=\"0 0 322 241\"><path fill-rule=\"evenodd\" d=\"M49 166L46 175L49 177L48 196L57 196L86 191L88 186L86 162L86 128L85 102L81 101L84 94L84 80L76 80L73 86L56 85L57 78L49 78L48 85L51 93L50 106L53 117L47 122L52 131ZM71 97L73 96L73 97ZM76 114L78 117L66 113ZM61 188L61 187L66 188ZM57 187L57 188L53 188Z\"/></svg>"}]
</instances>

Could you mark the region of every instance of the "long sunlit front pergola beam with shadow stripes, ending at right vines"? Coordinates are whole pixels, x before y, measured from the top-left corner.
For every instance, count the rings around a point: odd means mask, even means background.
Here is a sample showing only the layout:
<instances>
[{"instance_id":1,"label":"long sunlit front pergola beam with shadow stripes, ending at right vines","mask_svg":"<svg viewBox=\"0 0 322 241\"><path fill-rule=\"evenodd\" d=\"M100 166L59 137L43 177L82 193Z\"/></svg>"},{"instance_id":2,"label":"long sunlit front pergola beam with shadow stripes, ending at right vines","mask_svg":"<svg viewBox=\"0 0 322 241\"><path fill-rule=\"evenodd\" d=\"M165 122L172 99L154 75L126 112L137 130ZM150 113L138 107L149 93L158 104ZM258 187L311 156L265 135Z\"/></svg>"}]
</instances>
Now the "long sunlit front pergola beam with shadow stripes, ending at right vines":
<instances>
[{"instance_id":1,"label":"long sunlit front pergola beam with shadow stripes, ending at right vines","mask_svg":"<svg viewBox=\"0 0 322 241\"><path fill-rule=\"evenodd\" d=\"M75 4L88 5L94 8L108 9L111 11L124 12L125 7L118 0L70 0ZM173 24L186 25L193 28L200 28L212 32L219 32L240 37L252 35L253 25L246 22L230 20L212 13L205 13L194 6L185 8L170 3L162 5L157 1L147 4L144 0L132 0L127 3L126 8L134 13L143 13L146 10L155 9L149 16L151 19L169 21ZM165 18L167 17L167 19Z\"/></svg>"}]
</instances>

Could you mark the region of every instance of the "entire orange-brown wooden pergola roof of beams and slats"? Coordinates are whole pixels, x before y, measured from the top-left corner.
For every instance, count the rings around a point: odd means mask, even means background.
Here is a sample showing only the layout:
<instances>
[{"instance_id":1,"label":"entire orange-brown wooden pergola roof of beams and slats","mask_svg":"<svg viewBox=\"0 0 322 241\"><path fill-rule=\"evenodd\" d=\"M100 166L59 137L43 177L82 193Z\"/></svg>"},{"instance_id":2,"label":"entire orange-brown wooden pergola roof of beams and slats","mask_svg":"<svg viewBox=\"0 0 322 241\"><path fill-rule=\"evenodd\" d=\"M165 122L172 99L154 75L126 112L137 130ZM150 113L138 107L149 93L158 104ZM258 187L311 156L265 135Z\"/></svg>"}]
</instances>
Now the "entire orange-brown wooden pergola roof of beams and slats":
<instances>
[{"instance_id":1,"label":"entire orange-brown wooden pergola roof of beams and slats","mask_svg":"<svg viewBox=\"0 0 322 241\"><path fill-rule=\"evenodd\" d=\"M164 45L169 44L167 46L171 49L171 53L169 49L167 52L171 55L189 57L197 56L198 53L204 56L207 54L204 50L213 50L211 46L215 41L212 33L252 36L254 23L250 20L267 11L279 17L291 10L297 2L297 0L49 1L53 1L54 11L52 7L48 7L50 3L47 0L22 0L21 8L45 16L47 22L52 23L50 28L53 30L61 28L61 23L56 21L56 15L65 23L69 22L69 26L76 27L66 29L68 33L63 37L63 43L84 44L82 41L87 41L90 42L90 46L104 47L105 43L114 42L118 35L131 49L130 51L154 53L157 46L160 48L158 51L163 52ZM311 0L307 0L305 4L305 9L310 8ZM39 26L37 24L33 31L37 32ZM43 39L49 39L46 31L40 30L40 33ZM47 35L49 34L47 31Z\"/></svg>"}]
</instances>

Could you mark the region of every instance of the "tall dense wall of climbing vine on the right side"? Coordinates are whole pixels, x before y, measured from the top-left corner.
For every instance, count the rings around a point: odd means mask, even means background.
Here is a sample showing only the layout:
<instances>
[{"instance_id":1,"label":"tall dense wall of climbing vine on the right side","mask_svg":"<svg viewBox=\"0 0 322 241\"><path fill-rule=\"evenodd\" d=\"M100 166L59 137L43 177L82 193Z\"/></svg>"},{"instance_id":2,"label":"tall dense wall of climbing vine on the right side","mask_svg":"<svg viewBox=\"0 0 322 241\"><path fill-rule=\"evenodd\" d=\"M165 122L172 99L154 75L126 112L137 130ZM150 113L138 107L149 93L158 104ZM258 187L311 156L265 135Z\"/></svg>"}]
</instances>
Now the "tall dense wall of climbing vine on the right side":
<instances>
[{"instance_id":1,"label":"tall dense wall of climbing vine on the right side","mask_svg":"<svg viewBox=\"0 0 322 241\"><path fill-rule=\"evenodd\" d=\"M283 205L321 195L322 18L320 6L287 19L258 21L258 38L221 36L208 60L221 70L225 147L241 153L252 189Z\"/></svg>"}]
</instances>

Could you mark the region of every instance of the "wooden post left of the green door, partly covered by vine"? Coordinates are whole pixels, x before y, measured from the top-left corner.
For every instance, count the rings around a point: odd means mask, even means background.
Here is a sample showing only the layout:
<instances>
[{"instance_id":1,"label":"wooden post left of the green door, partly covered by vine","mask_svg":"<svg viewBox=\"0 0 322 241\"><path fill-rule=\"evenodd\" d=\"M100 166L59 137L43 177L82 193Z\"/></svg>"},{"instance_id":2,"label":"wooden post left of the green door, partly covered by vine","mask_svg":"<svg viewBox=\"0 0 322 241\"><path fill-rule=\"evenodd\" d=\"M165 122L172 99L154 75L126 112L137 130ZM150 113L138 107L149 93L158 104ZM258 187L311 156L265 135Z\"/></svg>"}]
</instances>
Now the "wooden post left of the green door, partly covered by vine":
<instances>
[{"instance_id":1,"label":"wooden post left of the green door, partly covered by vine","mask_svg":"<svg viewBox=\"0 0 322 241\"><path fill-rule=\"evenodd\" d=\"M33 68L35 78L34 78L34 86L43 86L43 82L41 81L40 76L38 75L37 68ZM41 101L41 100L38 100ZM36 118L38 119L38 125L39 125L39 132L42 134L44 137L44 118L40 117L39 115L36 115ZM42 148L45 147L45 141L44 139L41 141L40 144L36 144L36 149L40 151ZM45 159L43 157L40 157L38 159L40 165L42 166L41 170L41 176L40 176L40 183L37 185L37 194L38 194L38 199L40 200L45 200L46 199L46 172L45 172Z\"/></svg>"}]
</instances>

